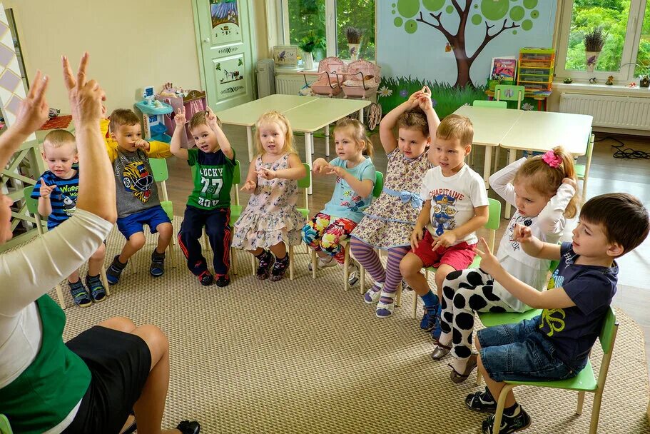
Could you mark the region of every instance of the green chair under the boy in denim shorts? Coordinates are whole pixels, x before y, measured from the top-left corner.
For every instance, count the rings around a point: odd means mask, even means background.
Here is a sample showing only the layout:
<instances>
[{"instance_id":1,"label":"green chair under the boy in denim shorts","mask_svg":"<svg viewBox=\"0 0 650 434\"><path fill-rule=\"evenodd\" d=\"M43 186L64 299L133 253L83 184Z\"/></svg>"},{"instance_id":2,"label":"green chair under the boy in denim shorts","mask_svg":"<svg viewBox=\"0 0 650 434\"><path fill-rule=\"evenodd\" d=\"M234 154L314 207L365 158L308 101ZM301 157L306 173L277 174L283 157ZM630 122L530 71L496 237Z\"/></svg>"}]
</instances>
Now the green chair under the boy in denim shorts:
<instances>
[{"instance_id":1,"label":"green chair under the boy in denim shorts","mask_svg":"<svg viewBox=\"0 0 650 434\"><path fill-rule=\"evenodd\" d=\"M619 329L619 323L616 323L616 314L611 307L607 311L603 321L603 326L599 335L600 345L603 349L603 359L600 363L598 378L594 375L594 369L591 367L591 360L588 360L586 366L574 378L568 380L555 381L506 381L506 385L499 394L497 400L497 411L494 414L494 434L499 433L501 418L503 414L504 403L509 391L517 385L533 385L542 388L576 390L578 392L578 405L576 414L582 414L582 405L584 403L584 394L586 392L594 393L594 405L591 407L591 422L589 423L589 434L596 434L598 430L598 418L600 416L600 405L605 388L605 380L609 372L609 363L611 362L611 353L614 350L614 341L616 332Z\"/></svg>"}]
</instances>

